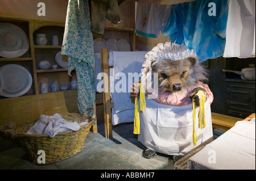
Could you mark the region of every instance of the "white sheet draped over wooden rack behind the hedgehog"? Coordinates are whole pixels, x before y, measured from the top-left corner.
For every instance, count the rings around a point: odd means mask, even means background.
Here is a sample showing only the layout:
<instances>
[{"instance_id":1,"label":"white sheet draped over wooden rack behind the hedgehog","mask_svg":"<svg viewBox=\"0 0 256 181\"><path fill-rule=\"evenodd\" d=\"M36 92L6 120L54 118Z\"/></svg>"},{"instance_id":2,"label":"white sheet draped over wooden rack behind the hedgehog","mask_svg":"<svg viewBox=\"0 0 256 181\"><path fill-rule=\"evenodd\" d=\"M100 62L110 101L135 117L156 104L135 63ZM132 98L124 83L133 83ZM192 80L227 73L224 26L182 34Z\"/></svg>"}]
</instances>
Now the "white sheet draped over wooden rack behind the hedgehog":
<instances>
[{"instance_id":1,"label":"white sheet draped over wooden rack behind the hedgehog","mask_svg":"<svg viewBox=\"0 0 256 181\"><path fill-rule=\"evenodd\" d=\"M110 96L114 103L113 125L134 121L134 103L130 98L130 87L134 79L130 79L128 74L141 73L146 53L146 51L109 52L109 65L113 66L112 71L115 75L114 78L110 71ZM119 77L118 74L122 76Z\"/></svg>"}]
</instances>

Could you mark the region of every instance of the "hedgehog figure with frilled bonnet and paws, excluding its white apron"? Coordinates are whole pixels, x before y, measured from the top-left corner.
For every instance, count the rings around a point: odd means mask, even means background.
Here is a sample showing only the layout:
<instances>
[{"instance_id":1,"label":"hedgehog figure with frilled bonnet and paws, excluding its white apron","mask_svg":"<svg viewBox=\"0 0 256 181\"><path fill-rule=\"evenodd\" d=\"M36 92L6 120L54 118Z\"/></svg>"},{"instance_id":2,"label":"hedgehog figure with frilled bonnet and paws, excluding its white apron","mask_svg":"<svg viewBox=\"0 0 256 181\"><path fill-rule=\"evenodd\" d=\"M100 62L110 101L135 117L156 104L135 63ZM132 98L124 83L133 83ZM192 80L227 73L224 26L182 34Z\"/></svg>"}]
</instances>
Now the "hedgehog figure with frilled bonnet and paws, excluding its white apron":
<instances>
[{"instance_id":1,"label":"hedgehog figure with frilled bonnet and paws, excluding its white apron","mask_svg":"<svg viewBox=\"0 0 256 181\"><path fill-rule=\"evenodd\" d=\"M148 98L170 106L191 104L194 98L196 106L199 106L199 99L195 94L202 90L212 103L212 92L208 85L203 83L208 81L207 71L199 64L193 50L189 50L185 45L161 43L148 52L145 59L141 83L146 88ZM158 82L157 87L154 87L154 81ZM138 83L131 86L131 96L139 96ZM155 151L151 149L144 152L146 158L155 155Z\"/></svg>"}]
</instances>

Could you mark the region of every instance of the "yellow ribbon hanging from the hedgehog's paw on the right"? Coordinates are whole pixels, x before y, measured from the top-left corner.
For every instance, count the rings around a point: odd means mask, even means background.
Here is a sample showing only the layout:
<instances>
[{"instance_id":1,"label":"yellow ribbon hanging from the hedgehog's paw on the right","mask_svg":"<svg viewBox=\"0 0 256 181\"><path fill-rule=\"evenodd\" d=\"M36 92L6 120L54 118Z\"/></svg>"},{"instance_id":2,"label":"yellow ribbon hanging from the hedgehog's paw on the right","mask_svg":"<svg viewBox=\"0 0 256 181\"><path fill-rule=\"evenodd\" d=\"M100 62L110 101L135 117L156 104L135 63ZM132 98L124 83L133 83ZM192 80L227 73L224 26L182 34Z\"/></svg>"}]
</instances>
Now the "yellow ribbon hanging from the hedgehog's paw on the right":
<instances>
[{"instance_id":1,"label":"yellow ribbon hanging from the hedgehog's paw on the right","mask_svg":"<svg viewBox=\"0 0 256 181\"><path fill-rule=\"evenodd\" d=\"M206 126L204 104L207 99L207 95L202 90L199 90L195 95L199 97L198 127L202 129L202 128L205 128ZM197 138L196 138L196 125L195 125L196 124L195 98L192 99L192 106L193 106L193 144L194 146L196 146Z\"/></svg>"}]
</instances>

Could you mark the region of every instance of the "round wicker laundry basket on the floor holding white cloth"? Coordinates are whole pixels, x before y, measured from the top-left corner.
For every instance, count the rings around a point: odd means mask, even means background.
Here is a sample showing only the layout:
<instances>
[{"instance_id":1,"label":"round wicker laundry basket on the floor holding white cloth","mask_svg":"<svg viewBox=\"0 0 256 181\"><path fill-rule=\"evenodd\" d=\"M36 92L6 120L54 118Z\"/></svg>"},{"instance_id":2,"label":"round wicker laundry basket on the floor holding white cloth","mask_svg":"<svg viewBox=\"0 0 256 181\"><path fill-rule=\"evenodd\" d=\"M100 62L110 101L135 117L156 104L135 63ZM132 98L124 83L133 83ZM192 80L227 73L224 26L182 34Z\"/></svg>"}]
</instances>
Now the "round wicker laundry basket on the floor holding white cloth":
<instances>
[{"instance_id":1,"label":"round wicker laundry basket on the floor holding white cloth","mask_svg":"<svg viewBox=\"0 0 256 181\"><path fill-rule=\"evenodd\" d=\"M54 163L67 159L76 155L82 150L84 146L84 141L88 135L90 128L95 121L95 110L92 117L86 115L80 115L79 113L69 113L67 115L61 115L66 121L77 121L77 123L82 122L85 119L89 119L90 122L81 125L78 131L65 131L56 134L55 137L51 138L47 134L24 134L35 121L30 121L28 123L20 124L15 128L15 136L20 145L27 152L32 163L36 165L47 165L49 163ZM43 150L45 153L45 163L38 163L39 155L38 151Z\"/></svg>"}]
</instances>

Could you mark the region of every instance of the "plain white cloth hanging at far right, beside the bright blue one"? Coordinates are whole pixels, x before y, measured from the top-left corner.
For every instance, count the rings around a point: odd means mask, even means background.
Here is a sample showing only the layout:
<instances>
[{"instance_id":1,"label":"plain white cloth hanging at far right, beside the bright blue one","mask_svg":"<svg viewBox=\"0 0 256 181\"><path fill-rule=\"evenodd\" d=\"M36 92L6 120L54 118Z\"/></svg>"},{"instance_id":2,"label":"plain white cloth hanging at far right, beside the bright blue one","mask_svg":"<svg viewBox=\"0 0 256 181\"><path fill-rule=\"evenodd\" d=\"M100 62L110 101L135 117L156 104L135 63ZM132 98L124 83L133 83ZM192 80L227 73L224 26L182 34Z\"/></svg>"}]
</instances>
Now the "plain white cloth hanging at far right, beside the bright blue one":
<instances>
[{"instance_id":1,"label":"plain white cloth hanging at far right, beside the bright blue one","mask_svg":"<svg viewBox=\"0 0 256 181\"><path fill-rule=\"evenodd\" d=\"M255 57L255 1L229 1L224 57Z\"/></svg>"}]
</instances>

